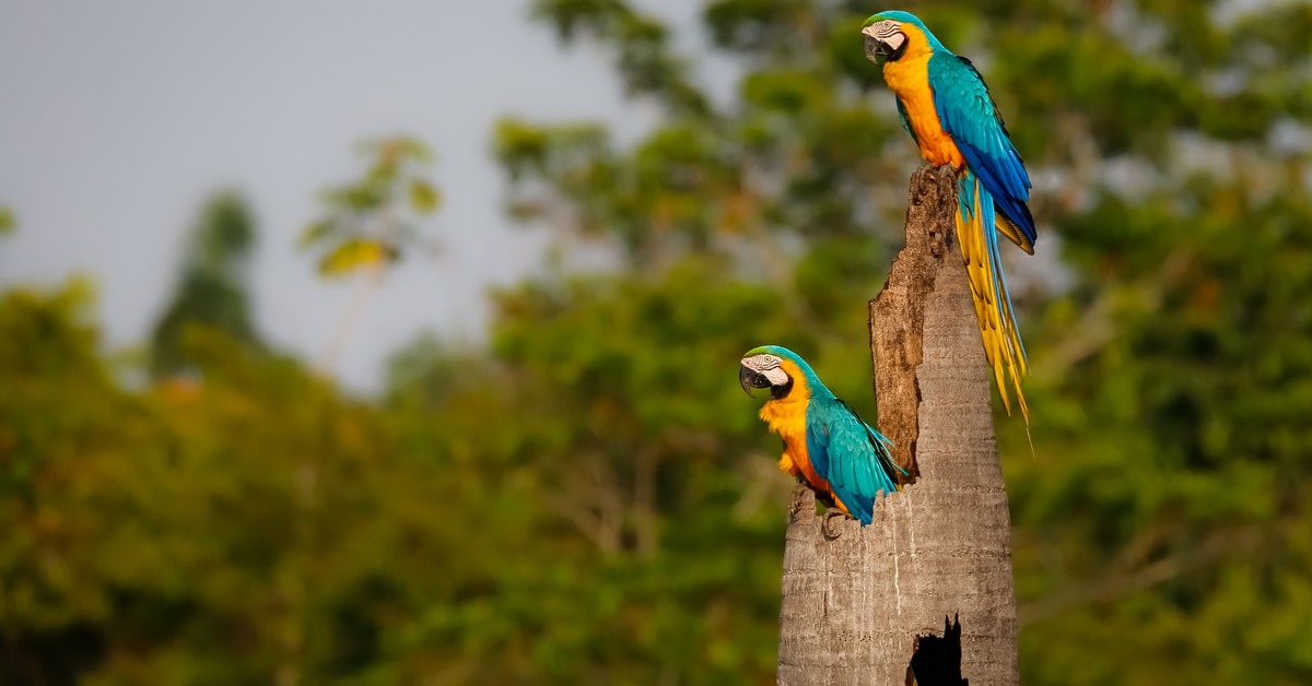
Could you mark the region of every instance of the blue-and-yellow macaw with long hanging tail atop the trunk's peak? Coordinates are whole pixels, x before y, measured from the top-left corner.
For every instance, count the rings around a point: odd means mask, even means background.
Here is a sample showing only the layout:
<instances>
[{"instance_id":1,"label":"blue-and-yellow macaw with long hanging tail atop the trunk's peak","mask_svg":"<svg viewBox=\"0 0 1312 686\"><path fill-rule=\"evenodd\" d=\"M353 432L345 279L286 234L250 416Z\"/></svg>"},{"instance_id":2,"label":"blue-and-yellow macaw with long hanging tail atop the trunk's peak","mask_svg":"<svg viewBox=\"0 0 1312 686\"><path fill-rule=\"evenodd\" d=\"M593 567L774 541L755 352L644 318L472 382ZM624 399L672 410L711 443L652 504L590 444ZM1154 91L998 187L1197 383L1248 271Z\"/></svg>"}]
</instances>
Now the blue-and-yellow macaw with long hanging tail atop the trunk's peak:
<instances>
[{"instance_id":1,"label":"blue-and-yellow macaw with long hanging tail atop the trunk's peak","mask_svg":"<svg viewBox=\"0 0 1312 686\"><path fill-rule=\"evenodd\" d=\"M997 233L1034 254L1030 176L1012 144L984 77L966 58L951 54L907 12L882 12L866 20L866 56L883 62L884 81L897 96L903 126L930 164L956 168L956 239L975 299L984 353L993 367L1008 413L1017 404L1030 421L1021 393L1027 374L1025 346L1012 312Z\"/></svg>"}]
</instances>

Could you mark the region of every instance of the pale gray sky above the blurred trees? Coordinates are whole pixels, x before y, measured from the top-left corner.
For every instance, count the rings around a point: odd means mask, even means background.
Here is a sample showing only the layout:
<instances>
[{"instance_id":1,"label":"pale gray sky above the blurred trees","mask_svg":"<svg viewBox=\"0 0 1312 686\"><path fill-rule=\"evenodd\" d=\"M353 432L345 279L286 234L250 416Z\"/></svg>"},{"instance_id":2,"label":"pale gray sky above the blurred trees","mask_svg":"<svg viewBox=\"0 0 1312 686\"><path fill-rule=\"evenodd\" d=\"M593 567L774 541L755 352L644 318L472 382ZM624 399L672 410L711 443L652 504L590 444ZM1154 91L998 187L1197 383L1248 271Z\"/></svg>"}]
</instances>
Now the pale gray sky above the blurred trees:
<instances>
[{"instance_id":1,"label":"pale gray sky above the blurred trees","mask_svg":"<svg viewBox=\"0 0 1312 686\"><path fill-rule=\"evenodd\" d=\"M655 4L685 28L698 5ZM539 262L543 236L502 218L487 153L508 113L630 132L649 118L602 52L559 50L526 1L0 0L0 205L20 223L0 285L89 274L110 345L140 342L201 201L231 186L260 220L258 327L316 359L350 286L315 278L295 236L361 168L357 142L412 134L440 157L446 205L426 231L443 252L390 277L338 362L349 387L377 387L424 328L479 340L485 287Z\"/></svg>"}]
</instances>

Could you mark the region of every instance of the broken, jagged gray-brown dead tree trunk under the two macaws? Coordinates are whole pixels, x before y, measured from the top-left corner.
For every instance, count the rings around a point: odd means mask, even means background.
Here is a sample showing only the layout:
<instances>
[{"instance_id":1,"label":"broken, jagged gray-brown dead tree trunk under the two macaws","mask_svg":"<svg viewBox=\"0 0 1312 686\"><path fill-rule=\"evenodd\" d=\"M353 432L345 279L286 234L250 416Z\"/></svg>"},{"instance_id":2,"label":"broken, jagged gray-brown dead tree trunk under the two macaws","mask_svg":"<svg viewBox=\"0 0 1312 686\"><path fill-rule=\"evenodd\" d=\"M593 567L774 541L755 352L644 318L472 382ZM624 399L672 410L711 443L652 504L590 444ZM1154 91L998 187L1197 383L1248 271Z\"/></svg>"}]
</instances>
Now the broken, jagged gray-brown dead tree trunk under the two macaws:
<instances>
[{"instance_id":1,"label":"broken, jagged gray-brown dead tree trunk under the two macaws","mask_svg":"<svg viewBox=\"0 0 1312 686\"><path fill-rule=\"evenodd\" d=\"M1018 681L1010 518L955 206L950 168L912 176L907 247L870 303L879 430L917 480L865 529L832 522L832 539L807 494L783 554L779 683L909 683L916 636L954 614L962 676Z\"/></svg>"}]
</instances>

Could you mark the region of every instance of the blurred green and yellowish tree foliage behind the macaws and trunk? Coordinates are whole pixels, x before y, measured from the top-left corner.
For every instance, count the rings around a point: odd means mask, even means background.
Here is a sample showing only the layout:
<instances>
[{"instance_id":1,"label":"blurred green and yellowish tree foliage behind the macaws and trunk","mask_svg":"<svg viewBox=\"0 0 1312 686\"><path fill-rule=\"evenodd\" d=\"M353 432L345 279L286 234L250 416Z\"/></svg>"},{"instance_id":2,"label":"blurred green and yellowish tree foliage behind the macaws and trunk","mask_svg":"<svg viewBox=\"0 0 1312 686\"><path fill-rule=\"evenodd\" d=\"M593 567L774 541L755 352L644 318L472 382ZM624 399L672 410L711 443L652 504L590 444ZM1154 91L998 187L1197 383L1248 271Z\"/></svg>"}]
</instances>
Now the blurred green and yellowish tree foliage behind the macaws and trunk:
<instances>
[{"instance_id":1,"label":"blurred green and yellowish tree foliage behind the macaws and trunk","mask_svg":"<svg viewBox=\"0 0 1312 686\"><path fill-rule=\"evenodd\" d=\"M663 117L499 123L508 210L564 258L375 400L207 321L197 375L125 388L85 286L8 293L0 682L769 682L790 484L735 365L787 345L874 416L917 164L876 9L707 4L737 70L710 93L657 17L534 3ZM1009 265L1036 456L998 417L1023 681L1312 681L1312 7L917 10L1038 185Z\"/></svg>"}]
</instances>

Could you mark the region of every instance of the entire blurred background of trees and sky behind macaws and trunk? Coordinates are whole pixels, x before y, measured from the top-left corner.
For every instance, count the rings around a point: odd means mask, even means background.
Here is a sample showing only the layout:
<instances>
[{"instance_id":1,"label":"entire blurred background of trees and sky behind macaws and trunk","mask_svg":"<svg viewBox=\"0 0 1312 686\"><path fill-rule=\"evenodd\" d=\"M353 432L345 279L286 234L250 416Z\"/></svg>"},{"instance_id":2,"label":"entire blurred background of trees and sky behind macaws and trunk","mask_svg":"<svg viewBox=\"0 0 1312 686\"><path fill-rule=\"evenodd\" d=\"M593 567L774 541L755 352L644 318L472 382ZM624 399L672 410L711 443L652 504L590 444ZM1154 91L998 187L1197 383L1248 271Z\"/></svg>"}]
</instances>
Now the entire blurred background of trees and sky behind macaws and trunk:
<instances>
[{"instance_id":1,"label":"entire blurred background of trees and sky behind macaws and trunk","mask_svg":"<svg viewBox=\"0 0 1312 686\"><path fill-rule=\"evenodd\" d=\"M736 365L875 414L880 9L0 3L0 683L771 682ZM1035 181L1023 681L1312 681L1312 5L903 9Z\"/></svg>"}]
</instances>

